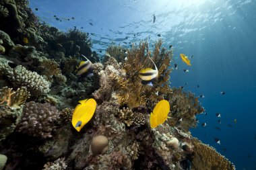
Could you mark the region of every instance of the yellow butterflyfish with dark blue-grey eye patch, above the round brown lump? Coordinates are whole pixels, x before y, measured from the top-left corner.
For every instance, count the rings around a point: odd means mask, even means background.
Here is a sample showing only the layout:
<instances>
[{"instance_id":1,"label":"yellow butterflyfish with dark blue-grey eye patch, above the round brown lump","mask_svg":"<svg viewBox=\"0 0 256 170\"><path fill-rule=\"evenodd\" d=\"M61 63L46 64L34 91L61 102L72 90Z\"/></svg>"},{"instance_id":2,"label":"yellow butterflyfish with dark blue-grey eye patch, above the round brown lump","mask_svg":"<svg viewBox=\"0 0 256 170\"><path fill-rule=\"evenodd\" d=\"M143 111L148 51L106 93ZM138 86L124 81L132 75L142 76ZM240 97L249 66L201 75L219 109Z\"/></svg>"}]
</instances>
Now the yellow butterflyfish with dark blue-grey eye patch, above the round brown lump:
<instances>
[{"instance_id":1,"label":"yellow butterflyfish with dark blue-grey eye patch, above the round brown lump","mask_svg":"<svg viewBox=\"0 0 256 170\"><path fill-rule=\"evenodd\" d=\"M78 132L80 132L84 125L92 119L97 103L95 99L84 99L78 102L80 104L75 107L73 112L72 125Z\"/></svg>"}]
</instances>

